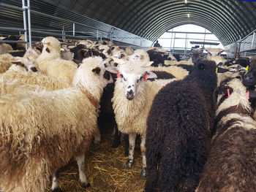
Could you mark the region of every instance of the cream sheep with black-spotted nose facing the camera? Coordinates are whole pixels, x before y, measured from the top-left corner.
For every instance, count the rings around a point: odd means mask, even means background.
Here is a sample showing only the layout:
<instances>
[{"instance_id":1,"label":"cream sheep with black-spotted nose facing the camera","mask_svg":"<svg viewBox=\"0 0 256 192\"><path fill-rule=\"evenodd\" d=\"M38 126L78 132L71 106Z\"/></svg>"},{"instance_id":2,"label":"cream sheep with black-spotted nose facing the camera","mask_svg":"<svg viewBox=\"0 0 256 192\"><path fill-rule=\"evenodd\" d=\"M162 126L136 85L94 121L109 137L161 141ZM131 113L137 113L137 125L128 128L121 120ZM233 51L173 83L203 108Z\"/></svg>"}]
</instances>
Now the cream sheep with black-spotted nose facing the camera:
<instances>
[{"instance_id":1,"label":"cream sheep with black-spotted nose facing the camera","mask_svg":"<svg viewBox=\"0 0 256 192\"><path fill-rule=\"evenodd\" d=\"M159 89L176 79L148 82L147 79L157 77L144 67L151 65L152 62L140 64L139 61L126 61L118 58L113 58L113 60L118 66L107 67L109 72L116 73L118 76L112 99L113 110L116 115L118 130L124 134L129 134L129 159L125 168L130 169L132 166L135 138L137 134L140 134L140 150L143 156L143 169L140 176L145 177L146 118L154 96Z\"/></svg>"}]
</instances>

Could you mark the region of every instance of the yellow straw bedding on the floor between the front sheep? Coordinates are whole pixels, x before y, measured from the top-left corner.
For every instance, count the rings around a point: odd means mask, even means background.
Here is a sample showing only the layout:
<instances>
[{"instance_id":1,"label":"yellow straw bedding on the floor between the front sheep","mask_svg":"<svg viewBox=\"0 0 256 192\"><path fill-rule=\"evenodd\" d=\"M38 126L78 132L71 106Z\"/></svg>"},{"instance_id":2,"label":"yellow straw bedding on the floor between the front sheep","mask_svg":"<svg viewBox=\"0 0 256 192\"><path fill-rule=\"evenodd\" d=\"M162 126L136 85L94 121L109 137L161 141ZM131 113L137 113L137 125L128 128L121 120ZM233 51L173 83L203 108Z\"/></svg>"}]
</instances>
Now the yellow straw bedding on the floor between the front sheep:
<instances>
[{"instance_id":1,"label":"yellow straw bedding on the floor between the front sheep","mask_svg":"<svg viewBox=\"0 0 256 192\"><path fill-rule=\"evenodd\" d=\"M136 142L135 162L132 169L124 169L127 162L124 156L124 142L117 148L112 148L111 131L102 131L102 142L93 144L86 153L86 177L91 186L80 188L78 166L71 161L61 169L60 187L65 192L142 192L146 180L140 179L142 158L140 141ZM46 192L50 192L50 185Z\"/></svg>"}]
</instances>

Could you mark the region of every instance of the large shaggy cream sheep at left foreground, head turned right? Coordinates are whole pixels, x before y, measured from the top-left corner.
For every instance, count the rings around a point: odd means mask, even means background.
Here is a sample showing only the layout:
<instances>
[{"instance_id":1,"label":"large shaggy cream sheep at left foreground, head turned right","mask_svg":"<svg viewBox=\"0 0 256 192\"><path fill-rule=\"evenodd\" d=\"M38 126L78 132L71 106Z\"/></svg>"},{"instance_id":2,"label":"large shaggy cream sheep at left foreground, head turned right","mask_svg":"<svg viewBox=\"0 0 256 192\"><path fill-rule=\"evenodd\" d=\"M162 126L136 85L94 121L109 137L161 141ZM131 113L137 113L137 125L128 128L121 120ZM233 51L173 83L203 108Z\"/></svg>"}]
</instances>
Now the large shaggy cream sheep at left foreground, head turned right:
<instances>
[{"instance_id":1,"label":"large shaggy cream sheep at left foreground, head turned right","mask_svg":"<svg viewBox=\"0 0 256 192\"><path fill-rule=\"evenodd\" d=\"M0 99L0 183L5 192L44 192L50 175L59 188L58 171L74 156L80 185L88 187L84 154L97 129L103 88L102 58L86 58L73 87L5 95ZM56 173L55 173L56 172Z\"/></svg>"}]
</instances>

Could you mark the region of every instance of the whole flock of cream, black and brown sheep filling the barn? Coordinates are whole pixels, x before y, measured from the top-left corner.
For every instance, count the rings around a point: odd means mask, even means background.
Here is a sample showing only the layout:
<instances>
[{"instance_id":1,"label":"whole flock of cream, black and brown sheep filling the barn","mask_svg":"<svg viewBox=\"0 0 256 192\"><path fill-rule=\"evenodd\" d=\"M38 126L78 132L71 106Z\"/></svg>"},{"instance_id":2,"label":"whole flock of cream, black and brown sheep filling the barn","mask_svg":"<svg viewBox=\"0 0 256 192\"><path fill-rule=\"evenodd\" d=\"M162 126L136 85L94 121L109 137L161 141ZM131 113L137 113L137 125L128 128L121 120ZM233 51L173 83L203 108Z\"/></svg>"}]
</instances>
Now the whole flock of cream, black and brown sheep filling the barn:
<instances>
[{"instance_id":1,"label":"whole flock of cream, black and brown sheep filling the barn","mask_svg":"<svg viewBox=\"0 0 256 192\"><path fill-rule=\"evenodd\" d=\"M54 37L16 48L0 44L2 191L44 192L50 177L59 191L59 169L72 158L89 187L85 154L108 113L115 146L120 132L129 137L126 169L141 137L146 192L256 191L256 58L192 50L180 61L153 47Z\"/></svg>"}]
</instances>

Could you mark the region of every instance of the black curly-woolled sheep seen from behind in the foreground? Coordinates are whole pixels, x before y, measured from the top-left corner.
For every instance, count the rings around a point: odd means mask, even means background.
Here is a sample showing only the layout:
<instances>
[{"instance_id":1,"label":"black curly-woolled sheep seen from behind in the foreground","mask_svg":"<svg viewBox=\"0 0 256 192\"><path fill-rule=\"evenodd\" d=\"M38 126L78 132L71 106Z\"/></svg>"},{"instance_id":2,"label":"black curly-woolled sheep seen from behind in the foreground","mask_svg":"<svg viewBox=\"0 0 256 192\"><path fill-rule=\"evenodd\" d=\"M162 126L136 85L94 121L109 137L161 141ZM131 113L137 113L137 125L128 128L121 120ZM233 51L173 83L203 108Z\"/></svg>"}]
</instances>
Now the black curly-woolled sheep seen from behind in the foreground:
<instances>
[{"instance_id":1,"label":"black curly-woolled sheep seen from behind in the foreground","mask_svg":"<svg viewBox=\"0 0 256 192\"><path fill-rule=\"evenodd\" d=\"M145 191L193 191L206 161L206 139L214 119L214 61L170 82L154 97L147 119ZM181 186L180 186L181 184Z\"/></svg>"}]
</instances>

